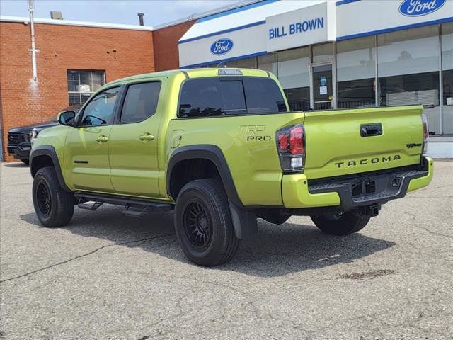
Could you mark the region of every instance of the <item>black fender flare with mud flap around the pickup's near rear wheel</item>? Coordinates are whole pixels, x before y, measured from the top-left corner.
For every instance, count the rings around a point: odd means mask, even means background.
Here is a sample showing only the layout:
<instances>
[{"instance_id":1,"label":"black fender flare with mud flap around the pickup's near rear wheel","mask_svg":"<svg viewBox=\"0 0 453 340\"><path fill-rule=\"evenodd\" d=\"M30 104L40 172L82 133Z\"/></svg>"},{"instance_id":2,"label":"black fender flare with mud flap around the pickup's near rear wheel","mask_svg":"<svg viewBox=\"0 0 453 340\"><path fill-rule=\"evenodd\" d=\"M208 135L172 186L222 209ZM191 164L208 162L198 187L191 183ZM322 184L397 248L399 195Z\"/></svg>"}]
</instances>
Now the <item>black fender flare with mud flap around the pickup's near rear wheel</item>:
<instances>
[{"instance_id":1,"label":"black fender flare with mud flap around the pickup's near rear wheel","mask_svg":"<svg viewBox=\"0 0 453 340\"><path fill-rule=\"evenodd\" d=\"M178 164L178 162L195 158L209 159L217 167L226 191L226 196L228 197L231 220L233 222L236 237L239 239L248 239L253 237L258 229L256 214L253 211L246 210L246 207L244 207L239 199L236 186L234 186L233 177L231 176L231 171L226 163L224 154L216 145L187 145L184 147L178 147L178 149L171 154L166 172L166 190L168 196L171 196L170 179L173 168L176 164ZM173 198L173 200L176 202L176 198Z\"/></svg>"}]
</instances>

